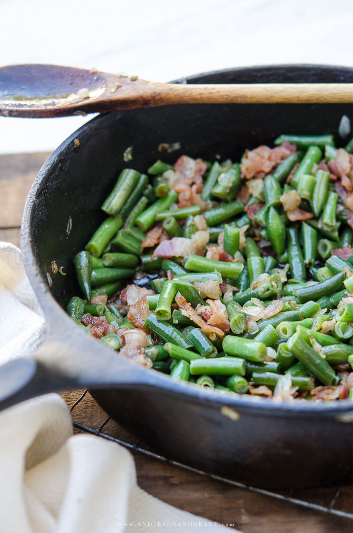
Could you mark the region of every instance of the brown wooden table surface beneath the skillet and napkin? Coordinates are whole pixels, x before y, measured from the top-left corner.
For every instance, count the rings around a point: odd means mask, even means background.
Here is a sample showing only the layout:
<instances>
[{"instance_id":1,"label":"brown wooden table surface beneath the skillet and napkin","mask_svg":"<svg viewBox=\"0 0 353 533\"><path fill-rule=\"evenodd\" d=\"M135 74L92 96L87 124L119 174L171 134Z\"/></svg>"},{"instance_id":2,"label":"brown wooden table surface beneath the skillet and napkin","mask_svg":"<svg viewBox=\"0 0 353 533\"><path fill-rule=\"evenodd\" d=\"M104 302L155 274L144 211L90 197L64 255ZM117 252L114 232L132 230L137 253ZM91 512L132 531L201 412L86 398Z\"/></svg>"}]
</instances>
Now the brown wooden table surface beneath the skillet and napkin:
<instances>
[{"instance_id":1,"label":"brown wooden table surface beneath the skillet and napkin","mask_svg":"<svg viewBox=\"0 0 353 533\"><path fill-rule=\"evenodd\" d=\"M0 240L20 245L23 205L31 183L49 154L0 156ZM83 391L62 394L69 406ZM73 410L76 422L98 430L107 415L90 394ZM76 432L82 430L76 429ZM134 443L136 439L113 421L102 430L113 438ZM286 500L235 487L182 467L132 452L139 486L176 507L220 523L232 523L244 533L351 533L353 522L338 515L305 508ZM315 460L315 458L314 458ZM288 491L280 493L288 495ZM353 487L294 490L291 498L352 513Z\"/></svg>"}]
</instances>

